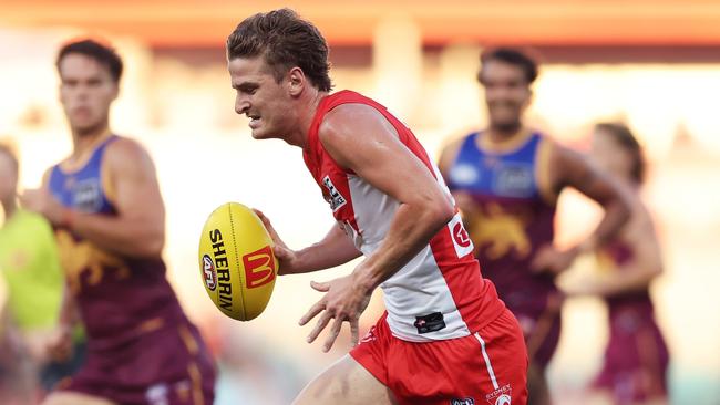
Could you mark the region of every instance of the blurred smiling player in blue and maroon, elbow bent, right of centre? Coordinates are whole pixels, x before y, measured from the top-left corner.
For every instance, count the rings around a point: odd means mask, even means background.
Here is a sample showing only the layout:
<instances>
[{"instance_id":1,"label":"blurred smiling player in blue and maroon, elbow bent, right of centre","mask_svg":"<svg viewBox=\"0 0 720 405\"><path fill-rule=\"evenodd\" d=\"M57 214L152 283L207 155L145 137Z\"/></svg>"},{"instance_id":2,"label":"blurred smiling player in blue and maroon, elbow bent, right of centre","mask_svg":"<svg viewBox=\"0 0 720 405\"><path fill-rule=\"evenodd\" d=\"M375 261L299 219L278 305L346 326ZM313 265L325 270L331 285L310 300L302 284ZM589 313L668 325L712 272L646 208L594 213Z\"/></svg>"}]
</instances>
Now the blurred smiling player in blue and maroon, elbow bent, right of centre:
<instances>
[{"instance_id":1,"label":"blurred smiling player in blue and maroon, elbow bent, right of centre","mask_svg":"<svg viewBox=\"0 0 720 405\"><path fill-rule=\"evenodd\" d=\"M520 321L527 354L529 403L551 402L545 368L560 334L562 297L555 277L582 251L617 232L629 214L619 186L579 154L523 124L537 65L506 48L481 55L490 127L445 147L440 170L463 212L483 274ZM605 209L582 246L553 246L558 194L574 187Z\"/></svg>"}]
</instances>

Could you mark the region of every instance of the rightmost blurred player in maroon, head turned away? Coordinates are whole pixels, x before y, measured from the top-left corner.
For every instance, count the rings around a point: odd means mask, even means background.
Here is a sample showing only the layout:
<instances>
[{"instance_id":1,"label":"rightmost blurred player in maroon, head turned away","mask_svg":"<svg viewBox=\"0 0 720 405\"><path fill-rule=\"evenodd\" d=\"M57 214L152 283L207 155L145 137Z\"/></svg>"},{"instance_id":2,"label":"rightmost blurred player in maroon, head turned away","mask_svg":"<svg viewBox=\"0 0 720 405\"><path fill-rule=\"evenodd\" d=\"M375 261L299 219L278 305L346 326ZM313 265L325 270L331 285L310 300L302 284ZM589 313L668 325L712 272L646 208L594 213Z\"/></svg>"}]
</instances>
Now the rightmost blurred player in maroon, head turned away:
<instances>
[{"instance_id":1,"label":"rightmost blurred player in maroon, head turned away","mask_svg":"<svg viewBox=\"0 0 720 405\"><path fill-rule=\"evenodd\" d=\"M595 126L590 157L635 194L645 178L642 156L627 126ZM603 273L567 290L603 297L608 305L609 341L593 387L617 405L665 404L669 354L649 292L650 282L662 272L662 259L652 219L639 197L630 221L597 252Z\"/></svg>"}]
</instances>

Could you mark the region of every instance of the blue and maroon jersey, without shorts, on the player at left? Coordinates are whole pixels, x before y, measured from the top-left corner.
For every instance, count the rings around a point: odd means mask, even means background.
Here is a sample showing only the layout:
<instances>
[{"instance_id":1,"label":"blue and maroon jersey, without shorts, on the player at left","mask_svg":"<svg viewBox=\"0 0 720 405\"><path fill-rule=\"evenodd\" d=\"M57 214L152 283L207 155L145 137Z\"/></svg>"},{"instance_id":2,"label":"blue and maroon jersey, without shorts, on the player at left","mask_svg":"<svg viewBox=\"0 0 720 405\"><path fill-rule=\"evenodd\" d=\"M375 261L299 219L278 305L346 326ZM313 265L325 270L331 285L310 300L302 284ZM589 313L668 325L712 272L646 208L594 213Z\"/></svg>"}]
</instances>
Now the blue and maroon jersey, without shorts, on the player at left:
<instances>
[{"instance_id":1,"label":"blue and maroon jersey, without shorts, on the player at left","mask_svg":"<svg viewBox=\"0 0 720 405\"><path fill-rule=\"evenodd\" d=\"M116 215L101 176L105 149L116 139L113 135L100 144L78 170L52 168L50 191L63 206L84 214ZM91 349L121 345L185 319L160 257L123 257L63 228L55 236Z\"/></svg>"}]
</instances>

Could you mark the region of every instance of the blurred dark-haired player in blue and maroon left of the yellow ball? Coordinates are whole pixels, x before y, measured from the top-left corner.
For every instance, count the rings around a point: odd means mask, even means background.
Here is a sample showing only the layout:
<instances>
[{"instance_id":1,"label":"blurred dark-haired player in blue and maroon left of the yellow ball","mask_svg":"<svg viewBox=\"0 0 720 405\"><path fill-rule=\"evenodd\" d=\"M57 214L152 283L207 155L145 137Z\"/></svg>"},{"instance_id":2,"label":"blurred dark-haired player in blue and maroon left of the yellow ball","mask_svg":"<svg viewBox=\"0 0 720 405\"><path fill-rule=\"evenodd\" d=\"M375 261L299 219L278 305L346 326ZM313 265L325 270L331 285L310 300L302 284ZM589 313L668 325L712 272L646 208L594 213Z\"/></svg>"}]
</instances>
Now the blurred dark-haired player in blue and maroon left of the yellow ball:
<instances>
[{"instance_id":1,"label":"blurred dark-haired player in blue and maroon left of the yellow ball","mask_svg":"<svg viewBox=\"0 0 720 405\"><path fill-rule=\"evenodd\" d=\"M92 40L60 50L73 150L47 172L40 190L22 197L55 227L66 294L88 333L84 366L47 403L212 404L213 362L165 278L154 165L138 143L109 127L122 66L113 49ZM61 313L64 336L71 302Z\"/></svg>"}]
</instances>

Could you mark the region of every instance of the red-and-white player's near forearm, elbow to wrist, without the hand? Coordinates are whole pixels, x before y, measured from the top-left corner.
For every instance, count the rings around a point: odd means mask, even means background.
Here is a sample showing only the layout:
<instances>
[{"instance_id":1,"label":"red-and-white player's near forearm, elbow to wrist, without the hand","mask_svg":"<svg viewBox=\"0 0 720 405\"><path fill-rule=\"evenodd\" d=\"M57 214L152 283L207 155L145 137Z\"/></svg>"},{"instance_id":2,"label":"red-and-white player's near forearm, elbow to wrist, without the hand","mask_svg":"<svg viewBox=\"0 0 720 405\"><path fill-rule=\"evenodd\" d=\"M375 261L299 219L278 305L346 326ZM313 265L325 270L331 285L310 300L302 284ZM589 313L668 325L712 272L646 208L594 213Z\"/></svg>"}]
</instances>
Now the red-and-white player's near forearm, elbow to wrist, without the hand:
<instances>
[{"instance_id":1,"label":"red-and-white player's near forearm, elbow to wrist, without the hand","mask_svg":"<svg viewBox=\"0 0 720 405\"><path fill-rule=\"evenodd\" d=\"M443 204L446 202L446 204ZM374 290L414 258L454 215L449 201L398 208L388 235L378 250L356 270L353 277Z\"/></svg>"}]
</instances>

